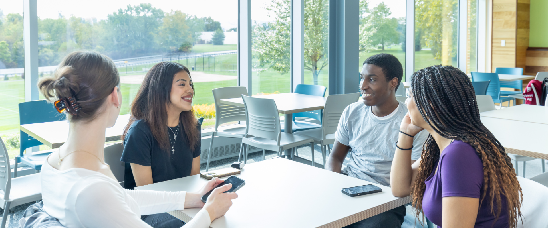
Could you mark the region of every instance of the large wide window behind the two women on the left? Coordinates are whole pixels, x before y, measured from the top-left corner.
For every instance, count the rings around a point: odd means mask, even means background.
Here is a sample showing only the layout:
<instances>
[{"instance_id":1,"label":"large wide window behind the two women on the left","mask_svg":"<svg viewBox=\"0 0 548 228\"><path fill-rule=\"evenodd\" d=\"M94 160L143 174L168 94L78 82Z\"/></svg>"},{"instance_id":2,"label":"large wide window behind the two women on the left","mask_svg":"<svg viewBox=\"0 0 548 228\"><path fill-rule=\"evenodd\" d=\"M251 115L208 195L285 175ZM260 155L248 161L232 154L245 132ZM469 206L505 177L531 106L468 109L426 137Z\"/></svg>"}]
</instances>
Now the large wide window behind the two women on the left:
<instances>
[{"instance_id":1,"label":"large wide window behind the two women on the left","mask_svg":"<svg viewBox=\"0 0 548 228\"><path fill-rule=\"evenodd\" d=\"M52 75L75 50L97 51L115 61L122 81L121 114L149 69L172 61L191 70L193 107L215 124L212 89L237 85L237 0L38 1L39 77Z\"/></svg>"}]
</instances>

